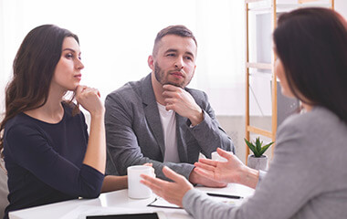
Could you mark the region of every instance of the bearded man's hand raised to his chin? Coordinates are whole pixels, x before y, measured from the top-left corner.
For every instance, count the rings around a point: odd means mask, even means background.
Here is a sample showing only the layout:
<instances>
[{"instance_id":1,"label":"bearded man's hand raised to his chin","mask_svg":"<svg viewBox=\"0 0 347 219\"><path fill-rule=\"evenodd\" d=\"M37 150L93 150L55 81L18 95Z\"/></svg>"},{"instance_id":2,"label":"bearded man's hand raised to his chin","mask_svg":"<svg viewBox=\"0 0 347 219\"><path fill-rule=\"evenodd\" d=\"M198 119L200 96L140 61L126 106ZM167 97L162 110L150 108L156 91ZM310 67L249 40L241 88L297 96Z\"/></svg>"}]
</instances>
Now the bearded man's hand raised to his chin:
<instances>
[{"instance_id":1,"label":"bearded man's hand raised to his chin","mask_svg":"<svg viewBox=\"0 0 347 219\"><path fill-rule=\"evenodd\" d=\"M174 110L188 118L194 126L204 120L203 110L196 104L190 93L174 85L164 85L163 89L166 110Z\"/></svg>"}]
</instances>

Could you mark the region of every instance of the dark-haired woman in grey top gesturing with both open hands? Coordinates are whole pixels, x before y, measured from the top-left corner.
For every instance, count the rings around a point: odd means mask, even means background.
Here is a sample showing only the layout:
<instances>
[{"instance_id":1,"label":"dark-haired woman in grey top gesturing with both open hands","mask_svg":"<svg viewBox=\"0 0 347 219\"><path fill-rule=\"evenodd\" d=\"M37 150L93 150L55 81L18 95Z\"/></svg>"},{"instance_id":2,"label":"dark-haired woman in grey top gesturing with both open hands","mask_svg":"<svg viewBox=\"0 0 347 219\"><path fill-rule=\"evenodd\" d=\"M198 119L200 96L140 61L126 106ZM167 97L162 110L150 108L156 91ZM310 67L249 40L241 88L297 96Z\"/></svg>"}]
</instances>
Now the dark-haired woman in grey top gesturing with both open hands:
<instances>
[{"instance_id":1,"label":"dark-haired woman in grey top gesturing with both open hands","mask_svg":"<svg viewBox=\"0 0 347 219\"><path fill-rule=\"evenodd\" d=\"M282 93L300 99L305 113L279 127L268 173L222 150L227 162L195 163L195 172L216 181L257 186L254 195L230 207L167 167L172 183L143 176L154 193L195 218L347 218L346 21L330 9L302 8L279 17L273 39Z\"/></svg>"}]
</instances>

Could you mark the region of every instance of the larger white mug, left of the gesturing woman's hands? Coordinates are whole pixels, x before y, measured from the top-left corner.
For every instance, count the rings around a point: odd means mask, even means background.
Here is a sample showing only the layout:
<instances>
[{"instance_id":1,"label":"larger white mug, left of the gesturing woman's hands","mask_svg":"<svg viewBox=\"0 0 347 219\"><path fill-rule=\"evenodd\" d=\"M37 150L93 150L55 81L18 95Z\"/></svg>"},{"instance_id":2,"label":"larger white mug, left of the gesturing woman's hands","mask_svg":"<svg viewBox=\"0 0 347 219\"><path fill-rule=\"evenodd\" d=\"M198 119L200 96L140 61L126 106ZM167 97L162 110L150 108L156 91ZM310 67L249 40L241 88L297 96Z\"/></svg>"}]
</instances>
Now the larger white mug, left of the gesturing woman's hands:
<instances>
[{"instance_id":1,"label":"larger white mug, left of the gesturing woman's hands","mask_svg":"<svg viewBox=\"0 0 347 219\"><path fill-rule=\"evenodd\" d=\"M152 190L140 183L141 174L153 176L153 168L151 166L136 165L130 166L128 171L128 196L132 199L145 199L152 196Z\"/></svg>"}]
</instances>

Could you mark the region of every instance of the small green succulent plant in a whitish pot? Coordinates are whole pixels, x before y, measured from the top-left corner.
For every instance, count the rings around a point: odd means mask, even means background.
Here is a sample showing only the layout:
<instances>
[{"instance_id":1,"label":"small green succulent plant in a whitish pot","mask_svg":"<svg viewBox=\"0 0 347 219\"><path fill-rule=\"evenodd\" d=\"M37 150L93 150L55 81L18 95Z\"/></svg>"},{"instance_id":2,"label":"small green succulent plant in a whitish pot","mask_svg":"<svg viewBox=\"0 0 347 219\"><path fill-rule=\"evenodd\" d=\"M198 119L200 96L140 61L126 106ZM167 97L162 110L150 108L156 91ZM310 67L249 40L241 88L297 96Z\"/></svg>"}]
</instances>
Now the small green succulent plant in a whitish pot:
<instances>
[{"instance_id":1,"label":"small green succulent plant in a whitish pot","mask_svg":"<svg viewBox=\"0 0 347 219\"><path fill-rule=\"evenodd\" d=\"M249 142L247 139L245 139L245 141L250 151L253 151L253 154L248 155L247 166L261 171L268 170L268 156L265 154L263 155L263 153L267 151L274 142L262 146L263 141L260 141L259 137L256 139L255 143Z\"/></svg>"}]
</instances>

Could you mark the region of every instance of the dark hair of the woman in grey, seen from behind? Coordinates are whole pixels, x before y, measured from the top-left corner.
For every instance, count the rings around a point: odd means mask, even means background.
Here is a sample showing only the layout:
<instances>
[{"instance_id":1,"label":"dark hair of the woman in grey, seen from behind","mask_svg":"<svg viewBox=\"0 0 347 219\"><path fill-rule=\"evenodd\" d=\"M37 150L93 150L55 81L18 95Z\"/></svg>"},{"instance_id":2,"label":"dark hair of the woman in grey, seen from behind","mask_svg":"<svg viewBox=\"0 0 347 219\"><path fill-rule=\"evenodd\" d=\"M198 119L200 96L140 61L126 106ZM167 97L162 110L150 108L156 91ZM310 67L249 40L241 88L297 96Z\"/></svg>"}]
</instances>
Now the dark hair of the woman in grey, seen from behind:
<instances>
[{"instance_id":1,"label":"dark hair of the woman in grey, seen from behind","mask_svg":"<svg viewBox=\"0 0 347 219\"><path fill-rule=\"evenodd\" d=\"M295 97L347 122L344 18L328 8L300 8L279 16L273 38Z\"/></svg>"}]
</instances>

